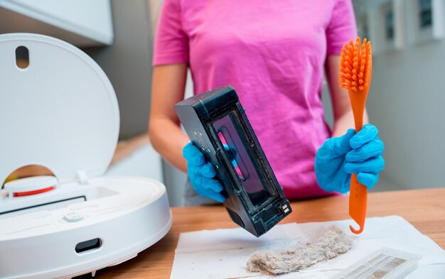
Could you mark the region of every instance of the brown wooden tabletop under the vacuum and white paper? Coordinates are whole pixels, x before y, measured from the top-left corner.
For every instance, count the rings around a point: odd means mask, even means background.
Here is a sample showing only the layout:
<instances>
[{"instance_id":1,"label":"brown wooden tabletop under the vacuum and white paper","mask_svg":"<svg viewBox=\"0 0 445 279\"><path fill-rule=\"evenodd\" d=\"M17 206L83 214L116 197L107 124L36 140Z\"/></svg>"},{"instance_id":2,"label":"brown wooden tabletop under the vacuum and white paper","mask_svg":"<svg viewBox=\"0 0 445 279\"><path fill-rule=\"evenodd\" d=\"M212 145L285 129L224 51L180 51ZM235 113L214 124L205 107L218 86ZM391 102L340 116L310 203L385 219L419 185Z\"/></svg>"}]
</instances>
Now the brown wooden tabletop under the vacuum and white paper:
<instances>
[{"instance_id":1,"label":"brown wooden tabletop under the vacuum and white paper","mask_svg":"<svg viewBox=\"0 0 445 279\"><path fill-rule=\"evenodd\" d=\"M348 197L292 202L282 223L348 219ZM96 278L170 278L181 232L235 228L222 206L173 207L173 226L157 244L130 261L98 270ZM375 192L368 195L368 217L400 215L445 248L445 188ZM129 228L131 229L131 228Z\"/></svg>"}]
</instances>

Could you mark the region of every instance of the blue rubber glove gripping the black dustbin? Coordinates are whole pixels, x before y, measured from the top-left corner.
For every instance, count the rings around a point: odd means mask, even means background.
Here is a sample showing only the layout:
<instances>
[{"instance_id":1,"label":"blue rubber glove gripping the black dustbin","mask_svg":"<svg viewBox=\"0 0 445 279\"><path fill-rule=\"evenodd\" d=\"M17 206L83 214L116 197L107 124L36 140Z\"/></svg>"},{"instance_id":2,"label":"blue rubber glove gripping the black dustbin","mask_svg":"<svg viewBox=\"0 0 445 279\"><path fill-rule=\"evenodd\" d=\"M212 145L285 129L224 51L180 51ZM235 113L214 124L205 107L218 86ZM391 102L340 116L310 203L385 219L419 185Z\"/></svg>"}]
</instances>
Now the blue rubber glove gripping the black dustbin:
<instances>
[{"instance_id":1,"label":"blue rubber glove gripping the black dustbin","mask_svg":"<svg viewBox=\"0 0 445 279\"><path fill-rule=\"evenodd\" d=\"M187 160L187 173L193 189L202 197L224 202L225 197L221 194L223 185L213 178L215 168L205 160L203 153L193 143L188 143L183 148L183 157Z\"/></svg>"}]
</instances>

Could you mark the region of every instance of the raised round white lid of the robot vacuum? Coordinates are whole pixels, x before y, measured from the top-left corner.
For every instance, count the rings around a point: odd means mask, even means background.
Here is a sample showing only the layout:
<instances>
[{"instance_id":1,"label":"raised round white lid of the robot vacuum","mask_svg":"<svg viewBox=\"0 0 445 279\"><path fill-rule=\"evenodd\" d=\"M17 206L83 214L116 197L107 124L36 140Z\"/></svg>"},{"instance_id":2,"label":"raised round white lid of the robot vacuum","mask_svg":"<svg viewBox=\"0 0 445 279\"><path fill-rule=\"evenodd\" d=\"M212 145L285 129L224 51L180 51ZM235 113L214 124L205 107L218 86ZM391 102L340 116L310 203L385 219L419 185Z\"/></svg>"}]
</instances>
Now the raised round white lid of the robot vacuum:
<instances>
[{"instance_id":1,"label":"raised round white lid of the robot vacuum","mask_svg":"<svg viewBox=\"0 0 445 279\"><path fill-rule=\"evenodd\" d=\"M59 182L107 170L119 108L88 55L46 35L0 35L0 79L0 185L24 165L42 165Z\"/></svg>"}]
</instances>

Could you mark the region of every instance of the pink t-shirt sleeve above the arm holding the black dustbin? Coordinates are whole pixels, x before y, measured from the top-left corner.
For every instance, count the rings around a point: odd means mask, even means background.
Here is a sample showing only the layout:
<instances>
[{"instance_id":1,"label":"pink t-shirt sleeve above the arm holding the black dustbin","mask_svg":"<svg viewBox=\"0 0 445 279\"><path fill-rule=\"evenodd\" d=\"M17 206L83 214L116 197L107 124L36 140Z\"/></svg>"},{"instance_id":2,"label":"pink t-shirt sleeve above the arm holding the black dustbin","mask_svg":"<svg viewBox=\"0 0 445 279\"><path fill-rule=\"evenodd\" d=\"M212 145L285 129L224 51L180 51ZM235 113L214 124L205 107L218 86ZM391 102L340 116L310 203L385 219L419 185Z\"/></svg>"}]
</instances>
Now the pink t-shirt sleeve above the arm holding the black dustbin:
<instances>
[{"instance_id":1,"label":"pink t-shirt sleeve above the arm holding the black dustbin","mask_svg":"<svg viewBox=\"0 0 445 279\"><path fill-rule=\"evenodd\" d=\"M154 41L154 66L188 62L188 36L183 28L179 1L163 1Z\"/></svg>"}]
</instances>

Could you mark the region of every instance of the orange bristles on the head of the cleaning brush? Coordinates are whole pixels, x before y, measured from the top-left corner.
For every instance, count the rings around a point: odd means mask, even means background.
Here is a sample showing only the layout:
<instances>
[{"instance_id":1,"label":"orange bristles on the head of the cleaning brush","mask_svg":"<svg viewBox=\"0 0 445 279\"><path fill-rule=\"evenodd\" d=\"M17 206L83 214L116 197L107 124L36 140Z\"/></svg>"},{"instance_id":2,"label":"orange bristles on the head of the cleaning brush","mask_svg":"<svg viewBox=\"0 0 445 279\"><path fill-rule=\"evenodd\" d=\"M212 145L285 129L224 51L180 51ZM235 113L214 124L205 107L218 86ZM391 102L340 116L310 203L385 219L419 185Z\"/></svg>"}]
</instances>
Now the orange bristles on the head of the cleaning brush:
<instances>
[{"instance_id":1,"label":"orange bristles on the head of the cleaning brush","mask_svg":"<svg viewBox=\"0 0 445 279\"><path fill-rule=\"evenodd\" d=\"M365 38L350 40L343 45L340 58L340 87L361 91L369 87L371 80L372 50L371 42Z\"/></svg>"}]
</instances>

